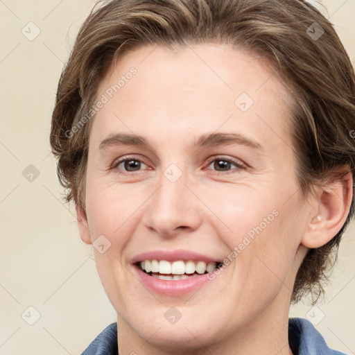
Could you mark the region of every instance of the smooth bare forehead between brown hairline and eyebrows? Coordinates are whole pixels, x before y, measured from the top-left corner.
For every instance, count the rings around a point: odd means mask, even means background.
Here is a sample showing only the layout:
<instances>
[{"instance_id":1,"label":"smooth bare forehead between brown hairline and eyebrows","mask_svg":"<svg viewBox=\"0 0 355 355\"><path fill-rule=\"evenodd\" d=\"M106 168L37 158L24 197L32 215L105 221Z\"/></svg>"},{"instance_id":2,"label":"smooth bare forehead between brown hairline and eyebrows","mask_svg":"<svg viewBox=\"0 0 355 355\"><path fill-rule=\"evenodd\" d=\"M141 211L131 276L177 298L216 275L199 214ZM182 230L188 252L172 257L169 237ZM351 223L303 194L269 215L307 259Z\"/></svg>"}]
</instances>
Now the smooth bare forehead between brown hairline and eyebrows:
<instances>
[{"instance_id":1,"label":"smooth bare forehead between brown hairline and eyebrows","mask_svg":"<svg viewBox=\"0 0 355 355\"><path fill-rule=\"evenodd\" d=\"M216 130L218 123L227 130L236 124L243 128L247 122L256 130L269 123L273 135L288 131L288 89L265 61L226 44L128 51L101 80L96 100L103 95L107 103L96 114L93 128L101 136L109 134L112 125L129 130L117 117L132 127L149 123L162 130L166 124L177 133ZM227 120L230 114L233 119Z\"/></svg>"}]
</instances>

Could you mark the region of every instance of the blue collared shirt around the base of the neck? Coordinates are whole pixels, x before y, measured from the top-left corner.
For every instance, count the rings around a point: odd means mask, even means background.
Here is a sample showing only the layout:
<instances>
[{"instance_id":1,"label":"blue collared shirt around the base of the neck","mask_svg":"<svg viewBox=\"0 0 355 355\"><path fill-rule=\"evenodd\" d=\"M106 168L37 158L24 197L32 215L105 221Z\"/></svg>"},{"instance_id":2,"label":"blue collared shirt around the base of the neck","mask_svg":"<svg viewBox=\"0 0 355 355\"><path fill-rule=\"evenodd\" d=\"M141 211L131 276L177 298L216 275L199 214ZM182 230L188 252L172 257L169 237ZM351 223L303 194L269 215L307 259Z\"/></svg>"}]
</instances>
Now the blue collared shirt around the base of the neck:
<instances>
[{"instance_id":1,"label":"blue collared shirt around the base of the neck","mask_svg":"<svg viewBox=\"0 0 355 355\"><path fill-rule=\"evenodd\" d=\"M288 320L288 343L294 355L345 355L331 350L309 320ZM117 355L117 323L108 325L81 355Z\"/></svg>"}]
</instances>

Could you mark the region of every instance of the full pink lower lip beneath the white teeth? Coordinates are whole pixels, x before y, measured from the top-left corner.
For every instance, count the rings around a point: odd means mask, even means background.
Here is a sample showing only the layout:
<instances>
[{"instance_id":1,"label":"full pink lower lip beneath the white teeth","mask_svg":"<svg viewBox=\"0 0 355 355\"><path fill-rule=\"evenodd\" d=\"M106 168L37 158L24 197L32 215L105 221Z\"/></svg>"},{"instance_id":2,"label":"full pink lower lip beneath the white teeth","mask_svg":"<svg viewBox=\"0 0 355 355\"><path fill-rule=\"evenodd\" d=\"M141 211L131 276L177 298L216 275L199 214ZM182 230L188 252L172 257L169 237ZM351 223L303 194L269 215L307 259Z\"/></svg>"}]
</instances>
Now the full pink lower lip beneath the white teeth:
<instances>
[{"instance_id":1,"label":"full pink lower lip beneath the white teeth","mask_svg":"<svg viewBox=\"0 0 355 355\"><path fill-rule=\"evenodd\" d=\"M191 276L189 279L181 280L161 280L153 276L148 275L142 271L137 265L133 265L135 274L139 277L141 283L153 293L159 295L178 297L181 295L187 295L193 291L198 290L202 285L207 282L211 282L208 278L209 274L203 274L198 276Z\"/></svg>"}]
</instances>

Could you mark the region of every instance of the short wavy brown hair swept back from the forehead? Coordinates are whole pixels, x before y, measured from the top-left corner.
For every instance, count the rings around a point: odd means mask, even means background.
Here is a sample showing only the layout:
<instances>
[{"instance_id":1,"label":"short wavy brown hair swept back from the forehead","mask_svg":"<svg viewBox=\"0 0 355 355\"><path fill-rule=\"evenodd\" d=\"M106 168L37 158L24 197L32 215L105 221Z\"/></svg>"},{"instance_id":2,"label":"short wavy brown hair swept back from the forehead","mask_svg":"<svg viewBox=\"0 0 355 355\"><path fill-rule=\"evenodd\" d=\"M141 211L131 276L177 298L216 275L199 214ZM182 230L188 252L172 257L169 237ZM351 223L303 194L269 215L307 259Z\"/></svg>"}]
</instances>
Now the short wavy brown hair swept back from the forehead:
<instances>
[{"instance_id":1,"label":"short wavy brown hair swept back from the forehead","mask_svg":"<svg viewBox=\"0 0 355 355\"><path fill-rule=\"evenodd\" d=\"M103 5L92 10L78 33L52 116L51 147L67 202L85 209L92 123L85 115L98 84L119 55L145 44L227 43L271 63L294 98L291 135L302 195L338 167L354 178L354 68L333 25L313 6L301 0L113 0ZM322 281L353 214L354 196L340 232L306 255L292 302L307 293L318 300L324 293Z\"/></svg>"}]
</instances>

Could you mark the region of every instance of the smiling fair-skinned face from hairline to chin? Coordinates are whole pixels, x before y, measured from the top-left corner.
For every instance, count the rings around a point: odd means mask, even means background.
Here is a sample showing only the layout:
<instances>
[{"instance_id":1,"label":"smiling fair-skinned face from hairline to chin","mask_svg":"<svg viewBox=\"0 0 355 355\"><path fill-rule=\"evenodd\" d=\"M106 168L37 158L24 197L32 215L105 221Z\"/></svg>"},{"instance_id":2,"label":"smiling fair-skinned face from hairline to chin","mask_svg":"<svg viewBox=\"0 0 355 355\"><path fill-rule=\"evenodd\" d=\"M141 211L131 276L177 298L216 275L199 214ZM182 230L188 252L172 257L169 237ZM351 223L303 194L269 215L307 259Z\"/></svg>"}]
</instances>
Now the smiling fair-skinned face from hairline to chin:
<instances>
[{"instance_id":1,"label":"smiling fair-skinned face from hairline to chin","mask_svg":"<svg viewBox=\"0 0 355 355\"><path fill-rule=\"evenodd\" d=\"M81 233L126 334L171 348L287 316L307 215L282 83L192 48L141 47L102 80Z\"/></svg>"}]
</instances>

